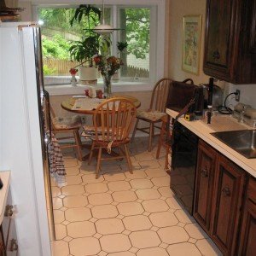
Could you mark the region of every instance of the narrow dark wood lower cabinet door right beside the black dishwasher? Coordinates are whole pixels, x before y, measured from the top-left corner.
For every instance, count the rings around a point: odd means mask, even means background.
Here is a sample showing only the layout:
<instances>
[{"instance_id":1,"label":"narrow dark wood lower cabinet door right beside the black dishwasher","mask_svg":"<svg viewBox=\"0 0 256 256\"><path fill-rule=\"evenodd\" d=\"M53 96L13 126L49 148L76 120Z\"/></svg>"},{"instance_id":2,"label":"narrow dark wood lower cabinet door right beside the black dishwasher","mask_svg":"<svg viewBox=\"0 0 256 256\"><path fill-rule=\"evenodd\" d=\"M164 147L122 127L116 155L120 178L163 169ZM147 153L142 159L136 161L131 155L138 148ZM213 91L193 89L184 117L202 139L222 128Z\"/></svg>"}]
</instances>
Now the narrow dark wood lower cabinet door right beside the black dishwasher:
<instances>
[{"instance_id":1,"label":"narrow dark wood lower cabinet door right beside the black dishwasher","mask_svg":"<svg viewBox=\"0 0 256 256\"><path fill-rule=\"evenodd\" d=\"M200 141L195 177L194 217L206 231L210 227L215 159L216 151Z\"/></svg>"}]
</instances>

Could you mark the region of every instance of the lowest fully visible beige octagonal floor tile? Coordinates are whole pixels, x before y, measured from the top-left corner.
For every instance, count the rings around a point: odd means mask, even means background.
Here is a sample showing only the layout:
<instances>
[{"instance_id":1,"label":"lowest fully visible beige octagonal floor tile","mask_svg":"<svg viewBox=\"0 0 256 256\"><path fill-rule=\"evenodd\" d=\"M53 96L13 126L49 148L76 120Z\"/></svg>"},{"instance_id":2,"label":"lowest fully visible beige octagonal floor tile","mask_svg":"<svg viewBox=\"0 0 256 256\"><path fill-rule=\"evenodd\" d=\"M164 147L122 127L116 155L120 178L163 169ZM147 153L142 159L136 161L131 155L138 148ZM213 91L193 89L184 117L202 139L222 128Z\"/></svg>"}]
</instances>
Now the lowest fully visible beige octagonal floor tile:
<instances>
[{"instance_id":1,"label":"lowest fully visible beige octagonal floor tile","mask_svg":"<svg viewBox=\"0 0 256 256\"><path fill-rule=\"evenodd\" d=\"M108 253L128 251L131 248L129 238L123 234L106 235L100 238L102 250Z\"/></svg>"}]
</instances>

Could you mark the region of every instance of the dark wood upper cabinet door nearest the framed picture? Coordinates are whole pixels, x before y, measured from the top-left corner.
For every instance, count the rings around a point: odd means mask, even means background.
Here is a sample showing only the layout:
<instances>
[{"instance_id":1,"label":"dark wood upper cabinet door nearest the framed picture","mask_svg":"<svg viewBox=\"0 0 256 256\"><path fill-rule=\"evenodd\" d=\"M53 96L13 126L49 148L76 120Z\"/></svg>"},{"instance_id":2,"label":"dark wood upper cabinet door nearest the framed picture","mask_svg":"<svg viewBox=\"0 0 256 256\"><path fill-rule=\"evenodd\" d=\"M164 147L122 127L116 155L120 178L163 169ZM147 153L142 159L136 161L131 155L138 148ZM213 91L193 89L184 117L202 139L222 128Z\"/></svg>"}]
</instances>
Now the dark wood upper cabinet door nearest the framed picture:
<instances>
[{"instance_id":1,"label":"dark wood upper cabinet door nearest the framed picture","mask_svg":"<svg viewBox=\"0 0 256 256\"><path fill-rule=\"evenodd\" d=\"M237 0L208 0L204 72L231 81L235 63L235 6Z\"/></svg>"}]
</instances>

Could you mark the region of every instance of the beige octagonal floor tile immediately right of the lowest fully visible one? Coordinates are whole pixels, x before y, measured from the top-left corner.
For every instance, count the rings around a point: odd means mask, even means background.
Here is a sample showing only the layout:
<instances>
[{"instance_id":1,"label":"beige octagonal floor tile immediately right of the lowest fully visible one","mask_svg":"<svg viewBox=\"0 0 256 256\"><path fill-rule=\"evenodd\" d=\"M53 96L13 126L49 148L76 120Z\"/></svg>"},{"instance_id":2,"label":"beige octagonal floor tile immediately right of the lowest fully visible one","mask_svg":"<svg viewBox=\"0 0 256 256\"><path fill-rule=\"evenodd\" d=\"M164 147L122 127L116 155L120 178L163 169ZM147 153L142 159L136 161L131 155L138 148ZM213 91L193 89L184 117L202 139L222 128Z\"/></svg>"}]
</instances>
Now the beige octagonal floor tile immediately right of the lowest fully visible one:
<instances>
[{"instance_id":1,"label":"beige octagonal floor tile immediately right of the lowest fully visible one","mask_svg":"<svg viewBox=\"0 0 256 256\"><path fill-rule=\"evenodd\" d=\"M132 232L129 237L132 246L137 248L158 247L161 243L159 236L152 230Z\"/></svg>"}]
</instances>

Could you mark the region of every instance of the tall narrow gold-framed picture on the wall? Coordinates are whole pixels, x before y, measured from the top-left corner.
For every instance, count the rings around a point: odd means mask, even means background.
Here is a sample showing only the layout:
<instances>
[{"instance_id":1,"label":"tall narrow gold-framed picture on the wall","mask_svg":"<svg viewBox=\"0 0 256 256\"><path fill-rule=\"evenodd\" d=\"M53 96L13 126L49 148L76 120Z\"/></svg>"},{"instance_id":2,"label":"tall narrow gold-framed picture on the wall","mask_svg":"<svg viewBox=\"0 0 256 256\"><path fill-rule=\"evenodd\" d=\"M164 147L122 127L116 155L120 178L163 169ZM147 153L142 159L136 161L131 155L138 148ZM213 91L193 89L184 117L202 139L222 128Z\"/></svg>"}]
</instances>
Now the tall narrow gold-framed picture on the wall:
<instances>
[{"instance_id":1,"label":"tall narrow gold-framed picture on the wall","mask_svg":"<svg viewBox=\"0 0 256 256\"><path fill-rule=\"evenodd\" d=\"M198 74L201 48L201 15L183 16L183 71Z\"/></svg>"}]
</instances>

